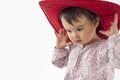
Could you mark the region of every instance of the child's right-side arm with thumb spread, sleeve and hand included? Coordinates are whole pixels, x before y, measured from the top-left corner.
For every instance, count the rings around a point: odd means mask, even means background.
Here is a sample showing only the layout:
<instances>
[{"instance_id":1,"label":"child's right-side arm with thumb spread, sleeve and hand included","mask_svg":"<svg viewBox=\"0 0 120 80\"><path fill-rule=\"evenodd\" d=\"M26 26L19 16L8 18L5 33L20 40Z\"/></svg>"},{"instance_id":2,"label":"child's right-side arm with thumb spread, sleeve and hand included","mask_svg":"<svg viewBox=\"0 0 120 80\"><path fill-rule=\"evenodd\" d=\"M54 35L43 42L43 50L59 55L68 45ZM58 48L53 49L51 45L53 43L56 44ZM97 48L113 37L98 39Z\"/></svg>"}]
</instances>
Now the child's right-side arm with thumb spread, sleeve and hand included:
<instances>
[{"instance_id":1,"label":"child's right-side arm with thumb spread, sleeve and hand included","mask_svg":"<svg viewBox=\"0 0 120 80\"><path fill-rule=\"evenodd\" d=\"M120 33L118 32L118 14L114 15L114 21L111 22L110 29L100 31L102 34L109 36L108 57L109 62L115 68L120 68Z\"/></svg>"}]
</instances>

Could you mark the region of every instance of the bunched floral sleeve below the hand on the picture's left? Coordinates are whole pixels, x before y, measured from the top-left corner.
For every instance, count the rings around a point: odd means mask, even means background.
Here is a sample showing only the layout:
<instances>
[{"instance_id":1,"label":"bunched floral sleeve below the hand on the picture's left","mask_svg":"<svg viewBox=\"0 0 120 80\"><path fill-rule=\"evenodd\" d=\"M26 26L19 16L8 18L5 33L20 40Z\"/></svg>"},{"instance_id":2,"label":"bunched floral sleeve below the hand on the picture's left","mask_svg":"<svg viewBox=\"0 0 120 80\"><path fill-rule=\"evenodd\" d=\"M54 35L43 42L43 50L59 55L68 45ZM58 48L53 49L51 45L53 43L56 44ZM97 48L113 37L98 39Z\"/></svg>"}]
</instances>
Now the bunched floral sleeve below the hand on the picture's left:
<instances>
[{"instance_id":1,"label":"bunched floral sleeve below the hand on the picture's left","mask_svg":"<svg viewBox=\"0 0 120 80\"><path fill-rule=\"evenodd\" d=\"M68 48L61 50L54 49L52 63L59 68L63 68L67 65L68 56L69 56Z\"/></svg>"}]
</instances>

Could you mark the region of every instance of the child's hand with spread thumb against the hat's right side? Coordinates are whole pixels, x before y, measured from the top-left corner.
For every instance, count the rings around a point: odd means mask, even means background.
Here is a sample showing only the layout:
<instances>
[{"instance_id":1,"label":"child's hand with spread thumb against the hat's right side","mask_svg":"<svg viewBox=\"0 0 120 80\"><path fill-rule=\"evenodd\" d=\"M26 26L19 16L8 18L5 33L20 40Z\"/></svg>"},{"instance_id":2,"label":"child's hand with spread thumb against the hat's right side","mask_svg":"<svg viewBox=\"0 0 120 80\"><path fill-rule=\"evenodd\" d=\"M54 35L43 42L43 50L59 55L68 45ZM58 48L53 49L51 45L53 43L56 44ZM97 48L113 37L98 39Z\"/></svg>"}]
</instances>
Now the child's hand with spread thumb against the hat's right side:
<instances>
[{"instance_id":1,"label":"child's hand with spread thumb against the hat's right side","mask_svg":"<svg viewBox=\"0 0 120 80\"><path fill-rule=\"evenodd\" d=\"M106 36L112 36L113 34L115 33L118 33L118 27L117 27L117 23L118 23L118 14L116 13L114 15L114 21L111 22L111 26L110 26L110 29L107 30L107 31L103 31L103 30L100 30L100 33L106 35Z\"/></svg>"}]
</instances>

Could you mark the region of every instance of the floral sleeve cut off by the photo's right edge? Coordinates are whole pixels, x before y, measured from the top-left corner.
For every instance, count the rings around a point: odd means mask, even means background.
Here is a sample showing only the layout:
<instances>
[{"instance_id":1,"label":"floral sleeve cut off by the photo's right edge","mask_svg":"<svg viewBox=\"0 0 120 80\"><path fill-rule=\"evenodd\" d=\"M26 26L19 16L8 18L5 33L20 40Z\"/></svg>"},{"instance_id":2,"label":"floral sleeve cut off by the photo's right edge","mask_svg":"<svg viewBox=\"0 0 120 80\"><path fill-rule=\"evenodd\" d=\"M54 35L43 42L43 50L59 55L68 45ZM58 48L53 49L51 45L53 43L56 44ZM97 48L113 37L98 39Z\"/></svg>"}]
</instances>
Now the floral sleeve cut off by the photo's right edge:
<instances>
[{"instance_id":1,"label":"floral sleeve cut off by the photo's right edge","mask_svg":"<svg viewBox=\"0 0 120 80\"><path fill-rule=\"evenodd\" d=\"M120 69L120 33L109 37L108 41L109 62L114 68Z\"/></svg>"}]
</instances>

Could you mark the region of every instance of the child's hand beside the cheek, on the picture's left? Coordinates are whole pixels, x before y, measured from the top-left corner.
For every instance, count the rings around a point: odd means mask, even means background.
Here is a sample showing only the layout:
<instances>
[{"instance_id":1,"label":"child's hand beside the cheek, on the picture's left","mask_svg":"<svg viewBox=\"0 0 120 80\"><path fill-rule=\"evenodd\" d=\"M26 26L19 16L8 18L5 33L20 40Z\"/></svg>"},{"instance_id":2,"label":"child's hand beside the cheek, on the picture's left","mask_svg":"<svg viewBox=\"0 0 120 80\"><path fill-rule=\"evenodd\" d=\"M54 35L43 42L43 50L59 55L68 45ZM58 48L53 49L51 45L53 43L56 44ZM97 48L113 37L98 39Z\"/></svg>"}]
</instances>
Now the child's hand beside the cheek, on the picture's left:
<instances>
[{"instance_id":1,"label":"child's hand beside the cheek, on the picture's left","mask_svg":"<svg viewBox=\"0 0 120 80\"><path fill-rule=\"evenodd\" d=\"M59 33L55 32L56 36L56 49L63 49L66 46L71 45L71 42L67 43L68 35L65 35L64 29L61 29Z\"/></svg>"}]
</instances>

